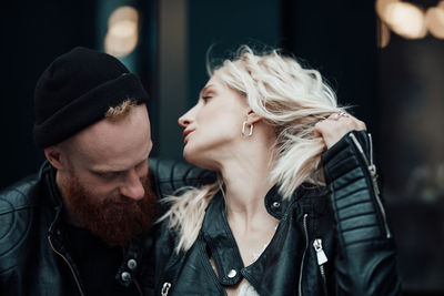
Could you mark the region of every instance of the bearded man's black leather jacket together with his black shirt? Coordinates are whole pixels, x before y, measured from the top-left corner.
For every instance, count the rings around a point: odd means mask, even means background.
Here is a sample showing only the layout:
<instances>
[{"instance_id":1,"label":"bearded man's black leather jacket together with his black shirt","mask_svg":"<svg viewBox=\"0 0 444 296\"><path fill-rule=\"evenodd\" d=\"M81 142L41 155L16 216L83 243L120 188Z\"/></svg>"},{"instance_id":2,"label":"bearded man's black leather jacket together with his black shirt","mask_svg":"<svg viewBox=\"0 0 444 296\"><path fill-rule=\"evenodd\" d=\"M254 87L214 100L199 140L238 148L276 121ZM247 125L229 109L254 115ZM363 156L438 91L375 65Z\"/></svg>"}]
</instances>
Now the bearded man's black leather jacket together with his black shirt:
<instances>
[{"instance_id":1,"label":"bearded man's black leather jacket together with his black shirt","mask_svg":"<svg viewBox=\"0 0 444 296\"><path fill-rule=\"evenodd\" d=\"M208 173L202 172L189 164L150 160L158 191L204 180ZM0 192L0 295L143 295L140 278L145 278L143 257L152 238L138 237L123 252L85 229L67 226L54 175L46 162L38 175Z\"/></svg>"}]
</instances>

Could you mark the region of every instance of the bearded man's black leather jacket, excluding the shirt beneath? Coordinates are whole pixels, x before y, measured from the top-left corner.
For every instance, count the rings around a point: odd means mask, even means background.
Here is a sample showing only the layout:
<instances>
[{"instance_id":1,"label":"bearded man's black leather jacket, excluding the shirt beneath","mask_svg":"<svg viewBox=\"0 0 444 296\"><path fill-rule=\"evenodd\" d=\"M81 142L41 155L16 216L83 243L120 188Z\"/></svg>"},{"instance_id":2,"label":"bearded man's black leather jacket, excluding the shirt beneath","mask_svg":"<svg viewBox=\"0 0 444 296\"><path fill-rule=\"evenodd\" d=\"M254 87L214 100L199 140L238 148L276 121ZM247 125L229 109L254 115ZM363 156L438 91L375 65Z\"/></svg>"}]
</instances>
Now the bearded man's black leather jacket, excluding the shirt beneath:
<instances>
[{"instance_id":1,"label":"bearded man's black leather jacket, excluding the shirt beneath","mask_svg":"<svg viewBox=\"0 0 444 296\"><path fill-rule=\"evenodd\" d=\"M1 296L87 295L82 275L63 239L63 205L54 172L46 162L37 175L0 193ZM165 184L169 188L181 187L189 185L186 181L204 180L203 175L208 173L183 163L151 160L150 174L155 175L154 182L162 182L167 192ZM160 184L153 183L153 186ZM120 285L135 285L141 295L144 293L139 282L147 267L143 255L151 244L150 236L134 239L115 271L115 280Z\"/></svg>"}]
</instances>

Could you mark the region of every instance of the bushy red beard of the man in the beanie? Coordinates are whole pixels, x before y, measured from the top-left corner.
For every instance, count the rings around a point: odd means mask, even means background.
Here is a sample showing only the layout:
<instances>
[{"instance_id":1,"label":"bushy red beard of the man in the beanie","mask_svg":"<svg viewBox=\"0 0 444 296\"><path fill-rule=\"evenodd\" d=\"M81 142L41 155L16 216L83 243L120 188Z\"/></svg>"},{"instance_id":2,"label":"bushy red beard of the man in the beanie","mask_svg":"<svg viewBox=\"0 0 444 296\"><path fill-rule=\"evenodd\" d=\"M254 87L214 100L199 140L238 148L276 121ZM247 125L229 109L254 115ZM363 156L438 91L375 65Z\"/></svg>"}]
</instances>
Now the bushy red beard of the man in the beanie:
<instances>
[{"instance_id":1,"label":"bushy red beard of the man in the beanie","mask_svg":"<svg viewBox=\"0 0 444 296\"><path fill-rule=\"evenodd\" d=\"M151 228L158 198L148 176L142 180L145 195L139 201L122 195L104 200L94 197L75 175L63 183L62 192L69 211L83 227L109 245L128 246L135 236Z\"/></svg>"}]
</instances>

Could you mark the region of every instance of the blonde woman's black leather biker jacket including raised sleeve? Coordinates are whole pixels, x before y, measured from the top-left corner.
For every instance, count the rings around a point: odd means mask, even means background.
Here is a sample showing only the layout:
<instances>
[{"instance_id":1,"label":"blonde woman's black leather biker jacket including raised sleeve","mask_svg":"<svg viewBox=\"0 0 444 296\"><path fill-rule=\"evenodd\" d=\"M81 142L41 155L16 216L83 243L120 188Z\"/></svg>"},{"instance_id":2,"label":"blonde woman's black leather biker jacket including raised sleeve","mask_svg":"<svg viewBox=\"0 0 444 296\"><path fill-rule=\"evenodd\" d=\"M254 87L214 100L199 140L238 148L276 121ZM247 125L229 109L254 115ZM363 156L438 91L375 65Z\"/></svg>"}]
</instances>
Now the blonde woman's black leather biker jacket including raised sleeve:
<instances>
[{"instance_id":1,"label":"blonde woman's black leather biker jacket including raised sleeve","mask_svg":"<svg viewBox=\"0 0 444 296\"><path fill-rule=\"evenodd\" d=\"M224 287L246 278L260 295L398 295L396 252L369 140L366 132L352 132L323 154L326 187L304 184L290 200L276 187L266 194L265 207L280 224L250 266L243 266L221 194L210 202L186 253L174 252L176 236L161 224L151 253L151 293L226 295Z\"/></svg>"}]
</instances>

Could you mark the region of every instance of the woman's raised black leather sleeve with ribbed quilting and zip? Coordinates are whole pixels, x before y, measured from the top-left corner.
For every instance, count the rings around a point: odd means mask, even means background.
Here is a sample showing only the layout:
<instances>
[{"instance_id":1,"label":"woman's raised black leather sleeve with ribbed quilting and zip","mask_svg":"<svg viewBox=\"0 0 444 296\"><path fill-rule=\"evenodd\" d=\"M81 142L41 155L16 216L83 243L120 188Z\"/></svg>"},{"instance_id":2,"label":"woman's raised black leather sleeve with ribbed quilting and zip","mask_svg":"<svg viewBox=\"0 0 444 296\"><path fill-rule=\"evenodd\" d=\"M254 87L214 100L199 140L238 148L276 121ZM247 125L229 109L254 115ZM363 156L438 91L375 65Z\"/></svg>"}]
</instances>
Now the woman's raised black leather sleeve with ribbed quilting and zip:
<instances>
[{"instance_id":1,"label":"woman's raised black leather sleeve with ribbed quilting and zip","mask_svg":"<svg viewBox=\"0 0 444 296\"><path fill-rule=\"evenodd\" d=\"M339 253L337 295L398 295L396 249L381 201L372 143L351 132L323 154Z\"/></svg>"}]
</instances>

